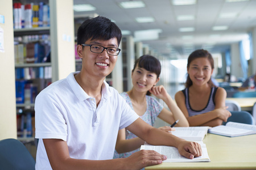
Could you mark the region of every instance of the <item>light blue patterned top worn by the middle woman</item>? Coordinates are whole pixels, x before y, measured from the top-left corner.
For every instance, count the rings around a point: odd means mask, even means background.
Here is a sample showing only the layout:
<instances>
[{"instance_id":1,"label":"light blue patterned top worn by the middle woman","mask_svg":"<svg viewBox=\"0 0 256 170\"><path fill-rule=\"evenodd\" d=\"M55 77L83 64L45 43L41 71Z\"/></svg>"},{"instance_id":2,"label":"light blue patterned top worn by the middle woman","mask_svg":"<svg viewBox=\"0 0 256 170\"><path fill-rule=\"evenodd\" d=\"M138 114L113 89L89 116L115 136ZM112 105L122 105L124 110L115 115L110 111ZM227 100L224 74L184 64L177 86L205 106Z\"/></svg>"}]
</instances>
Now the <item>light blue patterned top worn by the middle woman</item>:
<instances>
[{"instance_id":1,"label":"light blue patterned top worn by the middle woman","mask_svg":"<svg viewBox=\"0 0 256 170\"><path fill-rule=\"evenodd\" d=\"M130 107L133 109L133 104L131 104L131 99L129 95L126 92L122 92L120 95L126 100L126 103L129 104ZM148 95L146 95L146 101L147 101L147 110L140 117L142 118L143 121L147 122L147 124L154 126L156 117L158 117L158 114L163 110L163 105L160 104L154 97L151 97ZM125 133L126 133L126 139L133 139L137 137L135 134L131 133L129 130L125 130ZM130 156L131 154L139 150L140 148L131 152L123 153L123 154L118 154L117 151L115 151L113 158L127 158L128 156Z\"/></svg>"}]
</instances>

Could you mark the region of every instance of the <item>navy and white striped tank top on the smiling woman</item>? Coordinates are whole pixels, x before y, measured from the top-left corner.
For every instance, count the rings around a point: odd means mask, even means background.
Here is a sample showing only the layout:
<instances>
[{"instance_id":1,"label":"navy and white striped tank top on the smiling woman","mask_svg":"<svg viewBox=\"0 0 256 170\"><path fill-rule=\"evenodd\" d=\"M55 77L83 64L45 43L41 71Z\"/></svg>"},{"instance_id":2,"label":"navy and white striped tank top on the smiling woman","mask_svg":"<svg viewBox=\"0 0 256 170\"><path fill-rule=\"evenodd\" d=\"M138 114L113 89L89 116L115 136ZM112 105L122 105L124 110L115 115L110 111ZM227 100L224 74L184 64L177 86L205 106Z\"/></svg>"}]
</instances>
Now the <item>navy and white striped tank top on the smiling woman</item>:
<instances>
[{"instance_id":1,"label":"navy and white striped tank top on the smiling woman","mask_svg":"<svg viewBox=\"0 0 256 170\"><path fill-rule=\"evenodd\" d=\"M191 105L189 103L188 88L185 88L182 91L184 96L185 96L185 104L186 104L186 107L187 107L187 110L188 110L189 117L190 116L195 116L197 114L207 113L207 112L210 112L210 111L214 110L214 108L215 108L214 97L215 97L217 88L218 87L212 87L212 89L210 91L210 97L209 97L207 106L204 109L202 109L201 111L195 111L191 108Z\"/></svg>"}]
</instances>

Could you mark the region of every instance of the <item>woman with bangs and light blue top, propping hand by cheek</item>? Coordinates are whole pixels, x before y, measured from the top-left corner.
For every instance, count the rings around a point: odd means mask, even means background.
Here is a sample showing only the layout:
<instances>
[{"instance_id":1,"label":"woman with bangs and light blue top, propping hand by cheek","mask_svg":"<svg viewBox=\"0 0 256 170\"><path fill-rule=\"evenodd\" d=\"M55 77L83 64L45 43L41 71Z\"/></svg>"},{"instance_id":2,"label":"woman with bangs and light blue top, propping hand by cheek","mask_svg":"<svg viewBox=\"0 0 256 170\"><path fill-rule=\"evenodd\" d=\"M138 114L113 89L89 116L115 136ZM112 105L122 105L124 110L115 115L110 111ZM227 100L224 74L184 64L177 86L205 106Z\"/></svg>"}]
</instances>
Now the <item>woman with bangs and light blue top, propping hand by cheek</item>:
<instances>
[{"instance_id":1,"label":"woman with bangs and light blue top, propping hand by cheek","mask_svg":"<svg viewBox=\"0 0 256 170\"><path fill-rule=\"evenodd\" d=\"M121 96L130 107L148 124L154 125L156 117L159 117L168 124L179 122L176 126L189 126L184 114L177 107L174 100L166 92L163 86L155 86L159 81L161 65L157 58L144 55L135 61L131 73L133 88L128 92L123 92ZM170 109L164 108L154 97L162 99ZM164 131L174 130L170 126L160 127ZM126 158L139 151L139 147L144 141L126 129L118 132L117 143L115 145L114 158ZM118 154L119 153L119 154Z\"/></svg>"}]
</instances>

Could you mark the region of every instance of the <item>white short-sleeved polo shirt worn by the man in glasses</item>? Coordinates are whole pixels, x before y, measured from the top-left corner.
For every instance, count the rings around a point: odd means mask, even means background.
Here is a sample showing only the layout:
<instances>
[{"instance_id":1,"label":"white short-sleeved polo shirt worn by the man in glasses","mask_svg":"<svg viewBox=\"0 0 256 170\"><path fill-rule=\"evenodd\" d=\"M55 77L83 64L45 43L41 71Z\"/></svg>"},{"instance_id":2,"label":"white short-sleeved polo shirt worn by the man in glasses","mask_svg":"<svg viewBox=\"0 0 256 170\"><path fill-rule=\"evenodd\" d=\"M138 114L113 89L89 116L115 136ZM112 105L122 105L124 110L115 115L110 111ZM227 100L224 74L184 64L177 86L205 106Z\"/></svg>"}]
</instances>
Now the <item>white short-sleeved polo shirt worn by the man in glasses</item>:
<instances>
[{"instance_id":1,"label":"white short-sleeved polo shirt worn by the man in glasses","mask_svg":"<svg viewBox=\"0 0 256 170\"><path fill-rule=\"evenodd\" d=\"M101 101L96 107L76 82L75 74L52 83L36 97L35 138L39 138L36 169L51 169L42 139L67 141L75 159L112 159L119 129L139 117L118 91L104 81Z\"/></svg>"}]
</instances>

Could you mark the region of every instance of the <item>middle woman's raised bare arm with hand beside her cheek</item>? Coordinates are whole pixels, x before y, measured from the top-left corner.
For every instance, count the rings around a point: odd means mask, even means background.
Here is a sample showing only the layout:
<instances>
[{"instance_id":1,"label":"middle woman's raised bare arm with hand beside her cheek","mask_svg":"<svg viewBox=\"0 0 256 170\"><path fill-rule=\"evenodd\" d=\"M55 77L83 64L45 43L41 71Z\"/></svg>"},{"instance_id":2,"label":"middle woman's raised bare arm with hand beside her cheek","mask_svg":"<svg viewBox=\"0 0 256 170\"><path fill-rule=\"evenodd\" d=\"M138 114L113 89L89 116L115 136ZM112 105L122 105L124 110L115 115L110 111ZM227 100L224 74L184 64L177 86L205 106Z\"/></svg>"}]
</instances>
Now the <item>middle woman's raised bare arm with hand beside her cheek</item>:
<instances>
[{"instance_id":1,"label":"middle woman's raised bare arm with hand beside her cheek","mask_svg":"<svg viewBox=\"0 0 256 170\"><path fill-rule=\"evenodd\" d=\"M162 99L170 109L170 111L168 111L166 108L163 108L163 110L158 115L160 119L162 119L163 121L167 122L170 125L173 124L176 120L179 120L176 126L182 126L182 127L189 126L187 118L181 112L180 108L177 107L177 104L175 103L175 101L167 93L166 89L162 85L152 87L150 92L156 97L158 97L159 99Z\"/></svg>"}]
</instances>

